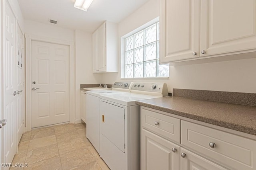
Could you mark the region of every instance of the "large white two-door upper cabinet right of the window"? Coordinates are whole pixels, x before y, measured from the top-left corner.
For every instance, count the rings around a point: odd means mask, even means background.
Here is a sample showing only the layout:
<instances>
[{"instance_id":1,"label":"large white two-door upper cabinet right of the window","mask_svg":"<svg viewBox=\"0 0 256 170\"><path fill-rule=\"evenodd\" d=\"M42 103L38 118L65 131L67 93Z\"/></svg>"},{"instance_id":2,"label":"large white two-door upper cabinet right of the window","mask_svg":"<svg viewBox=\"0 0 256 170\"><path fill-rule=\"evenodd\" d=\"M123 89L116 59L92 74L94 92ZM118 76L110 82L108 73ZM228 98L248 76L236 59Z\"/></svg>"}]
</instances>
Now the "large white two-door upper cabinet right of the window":
<instances>
[{"instance_id":1,"label":"large white two-door upper cabinet right of the window","mask_svg":"<svg viewBox=\"0 0 256 170\"><path fill-rule=\"evenodd\" d=\"M160 10L161 63L256 51L256 0L161 0Z\"/></svg>"}]
</instances>

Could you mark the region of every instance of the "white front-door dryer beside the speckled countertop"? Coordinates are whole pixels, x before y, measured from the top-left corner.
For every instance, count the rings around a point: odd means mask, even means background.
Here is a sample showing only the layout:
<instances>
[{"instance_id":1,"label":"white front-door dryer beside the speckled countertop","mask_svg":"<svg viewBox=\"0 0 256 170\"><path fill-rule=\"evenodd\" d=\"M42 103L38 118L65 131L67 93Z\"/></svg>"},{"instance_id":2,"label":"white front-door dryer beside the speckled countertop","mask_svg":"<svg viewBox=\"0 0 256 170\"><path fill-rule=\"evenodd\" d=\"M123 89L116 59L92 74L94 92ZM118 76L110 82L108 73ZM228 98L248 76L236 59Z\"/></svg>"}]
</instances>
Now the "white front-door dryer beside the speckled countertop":
<instances>
[{"instance_id":1,"label":"white front-door dryer beside the speckled countertop","mask_svg":"<svg viewBox=\"0 0 256 170\"><path fill-rule=\"evenodd\" d=\"M130 92L100 97L100 157L111 170L140 169L140 106L136 101L168 96L165 83L134 83Z\"/></svg>"}]
</instances>

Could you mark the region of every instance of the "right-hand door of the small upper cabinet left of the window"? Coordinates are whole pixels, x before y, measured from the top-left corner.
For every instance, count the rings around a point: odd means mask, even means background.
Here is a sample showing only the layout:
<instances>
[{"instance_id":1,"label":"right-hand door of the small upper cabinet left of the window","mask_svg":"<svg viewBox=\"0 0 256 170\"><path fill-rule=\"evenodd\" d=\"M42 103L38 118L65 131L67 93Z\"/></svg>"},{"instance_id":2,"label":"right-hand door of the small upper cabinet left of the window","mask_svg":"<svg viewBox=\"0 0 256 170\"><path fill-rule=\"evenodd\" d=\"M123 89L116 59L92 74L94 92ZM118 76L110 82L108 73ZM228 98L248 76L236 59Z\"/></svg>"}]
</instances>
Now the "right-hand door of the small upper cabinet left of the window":
<instances>
[{"instance_id":1,"label":"right-hand door of the small upper cabinet left of the window","mask_svg":"<svg viewBox=\"0 0 256 170\"><path fill-rule=\"evenodd\" d=\"M106 23L103 23L98 28L98 53L99 53L99 72L106 71L106 31L105 31Z\"/></svg>"}]
</instances>

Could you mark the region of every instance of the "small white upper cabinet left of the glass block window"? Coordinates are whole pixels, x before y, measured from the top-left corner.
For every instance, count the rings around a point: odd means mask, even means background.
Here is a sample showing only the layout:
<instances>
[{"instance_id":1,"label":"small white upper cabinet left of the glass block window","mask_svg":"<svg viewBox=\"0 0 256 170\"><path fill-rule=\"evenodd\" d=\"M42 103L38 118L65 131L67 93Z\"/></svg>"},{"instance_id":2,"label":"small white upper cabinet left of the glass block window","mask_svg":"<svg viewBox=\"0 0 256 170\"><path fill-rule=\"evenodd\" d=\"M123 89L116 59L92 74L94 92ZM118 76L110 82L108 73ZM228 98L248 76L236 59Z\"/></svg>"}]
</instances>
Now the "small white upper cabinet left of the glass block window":
<instances>
[{"instance_id":1,"label":"small white upper cabinet left of the glass block window","mask_svg":"<svg viewBox=\"0 0 256 170\"><path fill-rule=\"evenodd\" d=\"M118 25L104 22L92 34L92 71L118 72Z\"/></svg>"}]
</instances>

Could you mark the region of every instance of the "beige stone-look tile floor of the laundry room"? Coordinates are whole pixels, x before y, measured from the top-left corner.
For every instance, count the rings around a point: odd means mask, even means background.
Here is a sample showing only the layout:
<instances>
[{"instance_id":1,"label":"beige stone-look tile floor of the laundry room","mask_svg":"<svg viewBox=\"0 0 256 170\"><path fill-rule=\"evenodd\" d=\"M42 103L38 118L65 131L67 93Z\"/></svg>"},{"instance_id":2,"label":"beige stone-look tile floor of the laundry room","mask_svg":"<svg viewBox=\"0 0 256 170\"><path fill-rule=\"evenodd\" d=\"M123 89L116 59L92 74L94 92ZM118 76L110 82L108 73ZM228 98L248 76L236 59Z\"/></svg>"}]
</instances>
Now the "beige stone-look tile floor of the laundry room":
<instances>
[{"instance_id":1,"label":"beige stone-look tile floor of the laundry room","mask_svg":"<svg viewBox=\"0 0 256 170\"><path fill-rule=\"evenodd\" d=\"M13 164L28 164L16 170L109 170L90 141L86 125L64 124L22 135Z\"/></svg>"}]
</instances>

